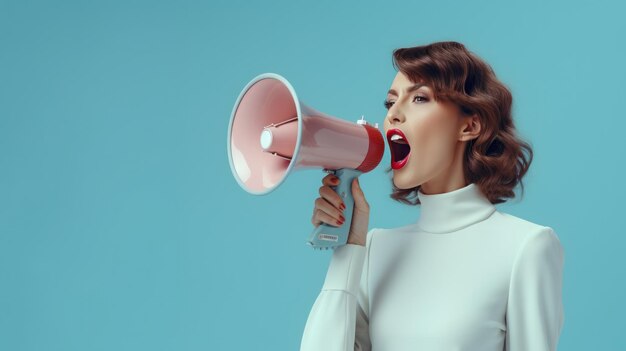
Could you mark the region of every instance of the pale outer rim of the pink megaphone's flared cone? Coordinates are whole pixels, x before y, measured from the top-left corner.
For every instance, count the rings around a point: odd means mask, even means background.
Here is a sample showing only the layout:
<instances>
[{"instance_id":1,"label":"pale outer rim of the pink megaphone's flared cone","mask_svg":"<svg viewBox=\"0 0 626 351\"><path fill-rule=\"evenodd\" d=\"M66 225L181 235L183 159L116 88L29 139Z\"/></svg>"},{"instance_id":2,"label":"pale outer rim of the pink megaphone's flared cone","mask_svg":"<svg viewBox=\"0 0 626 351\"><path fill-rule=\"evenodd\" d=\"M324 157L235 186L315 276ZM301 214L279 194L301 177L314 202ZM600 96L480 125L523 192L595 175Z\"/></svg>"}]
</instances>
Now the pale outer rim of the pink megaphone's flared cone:
<instances>
[{"instance_id":1,"label":"pale outer rim of the pink megaphone's flared cone","mask_svg":"<svg viewBox=\"0 0 626 351\"><path fill-rule=\"evenodd\" d=\"M289 163L289 166L287 166L287 170L285 171L285 173L283 174L282 178L276 182L276 184L274 184L274 186L265 189L263 191L254 191L248 188L248 186L246 186L246 184L244 184L241 179L239 178L239 175L237 174L237 171L235 170L235 165L233 163L233 154L232 154L232 150L231 150L231 142L230 142L230 137L232 135L232 128L233 128L233 122L235 121L235 113L237 112L237 108L239 107L239 104L241 103L241 99L243 99L243 97L246 95L246 93L248 92L248 90L254 85L256 84L258 81L263 80L263 79L276 79L278 81L280 81L281 83L283 83L287 89L289 90L289 93L291 94L293 101L296 105L296 112L298 114L298 135L297 135L297 139L296 139L296 148L293 152L293 156L291 159L291 162ZM300 153L300 139L301 139L301 135L302 135L302 111L300 111L300 100L298 100L298 95L296 94L295 89L293 88L293 86L291 86L291 84L289 83L289 81L281 76L280 74L277 73L271 73L271 72L266 72L266 73L262 73L259 74L258 76L252 78L251 81L248 82L248 84L246 84L246 86L241 90L241 92L239 93L239 96L237 97L237 100L235 102L235 105L233 106L233 110L230 114L230 122L228 123L228 134L226 136L226 147L228 150L228 163L230 165L230 170L233 173L233 176L235 177L235 179L237 180L237 183L239 184L239 186L241 186L245 191L247 191L250 194L253 195L266 195L271 193L272 191L274 191L276 188L278 188L287 178L287 176L289 175L289 173L292 171L292 169L294 168L295 164L297 163L298 160L298 155Z\"/></svg>"}]
</instances>

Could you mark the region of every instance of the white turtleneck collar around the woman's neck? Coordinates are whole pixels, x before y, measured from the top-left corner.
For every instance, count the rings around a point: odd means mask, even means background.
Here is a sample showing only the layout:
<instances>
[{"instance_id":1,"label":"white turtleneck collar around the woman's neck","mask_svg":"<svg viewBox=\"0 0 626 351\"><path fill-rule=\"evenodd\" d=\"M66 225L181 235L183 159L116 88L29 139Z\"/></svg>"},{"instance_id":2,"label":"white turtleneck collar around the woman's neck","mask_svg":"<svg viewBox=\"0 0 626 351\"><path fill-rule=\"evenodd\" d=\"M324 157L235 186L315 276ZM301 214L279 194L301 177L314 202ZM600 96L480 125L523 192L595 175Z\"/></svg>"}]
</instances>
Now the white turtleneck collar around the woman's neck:
<instances>
[{"instance_id":1,"label":"white turtleneck collar around the woman's neck","mask_svg":"<svg viewBox=\"0 0 626 351\"><path fill-rule=\"evenodd\" d=\"M420 217L417 226L430 233L449 233L480 222L496 207L475 183L447 193L427 195L418 191Z\"/></svg>"}]
</instances>

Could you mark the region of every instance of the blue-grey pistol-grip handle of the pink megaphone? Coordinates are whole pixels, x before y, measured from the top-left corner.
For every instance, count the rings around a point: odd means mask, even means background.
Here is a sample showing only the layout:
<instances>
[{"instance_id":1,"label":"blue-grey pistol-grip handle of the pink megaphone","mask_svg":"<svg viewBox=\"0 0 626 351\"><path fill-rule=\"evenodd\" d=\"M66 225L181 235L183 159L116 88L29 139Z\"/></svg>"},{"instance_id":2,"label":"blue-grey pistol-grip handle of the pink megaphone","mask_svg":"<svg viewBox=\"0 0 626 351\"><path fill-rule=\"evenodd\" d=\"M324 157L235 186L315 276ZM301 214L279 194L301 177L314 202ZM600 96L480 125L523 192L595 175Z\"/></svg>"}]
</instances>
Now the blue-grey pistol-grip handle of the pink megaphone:
<instances>
[{"instance_id":1,"label":"blue-grey pistol-grip handle of the pink megaphone","mask_svg":"<svg viewBox=\"0 0 626 351\"><path fill-rule=\"evenodd\" d=\"M331 186L331 188L341 196L346 205L346 208L343 210L343 216L346 221L338 227L322 223L315 228L307 241L307 244L314 249L335 249L348 242L348 234L352 225L352 212L354 210L352 181L363 174L363 172L351 168L340 168L332 171L332 173L339 178L339 185Z\"/></svg>"}]
</instances>

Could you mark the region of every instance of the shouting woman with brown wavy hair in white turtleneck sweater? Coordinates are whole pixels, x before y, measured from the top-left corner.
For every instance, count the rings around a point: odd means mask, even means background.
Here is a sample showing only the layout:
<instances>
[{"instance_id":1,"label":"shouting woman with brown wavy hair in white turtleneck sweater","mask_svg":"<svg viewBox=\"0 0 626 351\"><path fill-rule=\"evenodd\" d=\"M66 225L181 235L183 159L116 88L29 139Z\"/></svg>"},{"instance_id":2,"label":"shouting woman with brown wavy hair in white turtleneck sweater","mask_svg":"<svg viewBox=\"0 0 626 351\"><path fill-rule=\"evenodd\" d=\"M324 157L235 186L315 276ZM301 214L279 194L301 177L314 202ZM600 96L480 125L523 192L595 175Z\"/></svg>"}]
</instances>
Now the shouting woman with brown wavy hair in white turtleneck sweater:
<instances>
[{"instance_id":1,"label":"shouting woman with brown wavy hair in white turtleneck sweater","mask_svg":"<svg viewBox=\"0 0 626 351\"><path fill-rule=\"evenodd\" d=\"M499 212L532 161L512 97L457 42L397 49L385 100L392 198L416 223L368 231L358 179L348 244L332 254L301 350L556 350L564 252L547 226ZM523 151L526 151L526 154ZM340 225L326 176L312 222Z\"/></svg>"}]
</instances>

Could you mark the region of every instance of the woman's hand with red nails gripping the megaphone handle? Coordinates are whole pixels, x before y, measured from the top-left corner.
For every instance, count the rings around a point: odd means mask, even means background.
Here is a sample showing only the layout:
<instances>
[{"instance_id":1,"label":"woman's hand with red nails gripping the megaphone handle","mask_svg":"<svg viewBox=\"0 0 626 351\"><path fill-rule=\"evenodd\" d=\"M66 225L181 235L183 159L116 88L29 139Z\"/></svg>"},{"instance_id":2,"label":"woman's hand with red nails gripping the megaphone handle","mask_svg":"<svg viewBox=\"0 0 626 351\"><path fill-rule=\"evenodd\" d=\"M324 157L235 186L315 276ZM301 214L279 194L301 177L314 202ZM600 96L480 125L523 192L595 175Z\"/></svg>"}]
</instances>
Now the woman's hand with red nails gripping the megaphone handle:
<instances>
[{"instance_id":1,"label":"woman's hand with red nails gripping the megaphone handle","mask_svg":"<svg viewBox=\"0 0 626 351\"><path fill-rule=\"evenodd\" d=\"M334 174L329 174L322 179L322 184L319 189L320 197L315 199L311 222L315 227L322 222L332 226L340 226L345 222L343 217L345 205L341 196L331 188L331 186L339 184L339 178ZM365 200L358 177L352 182L352 197L354 198L354 210L352 211L352 225L348 234L348 244L365 246L370 207Z\"/></svg>"}]
</instances>

